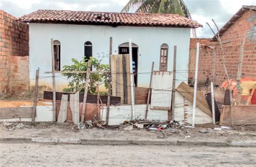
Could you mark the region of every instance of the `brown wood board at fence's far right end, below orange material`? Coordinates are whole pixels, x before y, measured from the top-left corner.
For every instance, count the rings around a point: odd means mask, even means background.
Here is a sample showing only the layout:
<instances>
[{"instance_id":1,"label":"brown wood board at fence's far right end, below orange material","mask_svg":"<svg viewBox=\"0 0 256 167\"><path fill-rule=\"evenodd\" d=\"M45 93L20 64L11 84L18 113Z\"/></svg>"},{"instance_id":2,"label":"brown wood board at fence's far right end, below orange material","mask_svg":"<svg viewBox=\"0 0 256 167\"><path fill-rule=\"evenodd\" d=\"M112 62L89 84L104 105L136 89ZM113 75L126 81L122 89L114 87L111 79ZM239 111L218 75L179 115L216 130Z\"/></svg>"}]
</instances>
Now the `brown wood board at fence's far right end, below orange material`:
<instances>
[{"instance_id":1,"label":"brown wood board at fence's far right end, below orange material","mask_svg":"<svg viewBox=\"0 0 256 167\"><path fill-rule=\"evenodd\" d=\"M234 125L256 125L256 105L237 105L232 107ZM232 125L230 106L223 106L220 125Z\"/></svg>"}]
</instances>

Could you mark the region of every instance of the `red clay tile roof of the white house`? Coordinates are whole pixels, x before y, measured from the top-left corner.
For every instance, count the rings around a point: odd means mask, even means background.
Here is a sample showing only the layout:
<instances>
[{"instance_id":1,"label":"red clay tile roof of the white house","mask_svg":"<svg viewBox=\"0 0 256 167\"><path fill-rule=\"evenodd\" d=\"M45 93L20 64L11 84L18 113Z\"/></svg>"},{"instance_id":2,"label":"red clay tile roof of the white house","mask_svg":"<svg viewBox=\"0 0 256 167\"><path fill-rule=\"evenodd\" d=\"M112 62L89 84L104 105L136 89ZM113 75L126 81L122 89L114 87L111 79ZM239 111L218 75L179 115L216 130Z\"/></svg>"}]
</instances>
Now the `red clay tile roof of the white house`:
<instances>
[{"instance_id":1,"label":"red clay tile roof of the white house","mask_svg":"<svg viewBox=\"0 0 256 167\"><path fill-rule=\"evenodd\" d=\"M203 27L197 23L197 21L181 17L178 14L38 10L19 17L18 19L29 23L99 24L112 26L179 26L191 28Z\"/></svg>"}]
</instances>

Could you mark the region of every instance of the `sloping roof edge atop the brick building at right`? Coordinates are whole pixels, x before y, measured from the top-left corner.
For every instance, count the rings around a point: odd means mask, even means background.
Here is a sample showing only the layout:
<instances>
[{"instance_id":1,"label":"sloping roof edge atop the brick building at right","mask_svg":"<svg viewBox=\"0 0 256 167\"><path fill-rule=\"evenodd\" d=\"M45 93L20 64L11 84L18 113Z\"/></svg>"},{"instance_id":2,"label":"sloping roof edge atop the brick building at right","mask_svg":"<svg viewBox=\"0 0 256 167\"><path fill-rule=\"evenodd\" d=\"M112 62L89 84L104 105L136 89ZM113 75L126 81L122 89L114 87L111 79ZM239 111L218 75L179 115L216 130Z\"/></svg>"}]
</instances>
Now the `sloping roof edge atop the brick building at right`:
<instances>
[{"instance_id":1,"label":"sloping roof edge atop the brick building at right","mask_svg":"<svg viewBox=\"0 0 256 167\"><path fill-rule=\"evenodd\" d=\"M234 24L234 22L237 21L237 19L242 16L242 14L244 14L248 10L256 11L256 6L253 6L253 5L251 5L251 6L246 6L246 5L242 6L242 8L237 13L235 13L234 16L229 21L227 21L227 23L222 28L220 28L220 30L219 30L220 36L223 35L223 33L228 28L230 28L230 26L232 26ZM217 41L217 38L215 37L215 35L212 38L212 41Z\"/></svg>"}]
</instances>

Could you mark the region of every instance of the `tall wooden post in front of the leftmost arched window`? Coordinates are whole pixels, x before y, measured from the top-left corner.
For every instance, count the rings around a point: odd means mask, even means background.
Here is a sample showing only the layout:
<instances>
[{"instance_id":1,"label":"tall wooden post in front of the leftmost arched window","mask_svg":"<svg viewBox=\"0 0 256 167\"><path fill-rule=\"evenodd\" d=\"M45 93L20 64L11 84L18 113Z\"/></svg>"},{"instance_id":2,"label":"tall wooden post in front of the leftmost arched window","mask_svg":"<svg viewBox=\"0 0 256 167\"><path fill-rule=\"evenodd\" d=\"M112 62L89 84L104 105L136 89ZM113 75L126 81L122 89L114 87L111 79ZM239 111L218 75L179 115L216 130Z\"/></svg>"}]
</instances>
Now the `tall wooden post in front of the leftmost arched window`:
<instances>
[{"instance_id":1,"label":"tall wooden post in front of the leftmost arched window","mask_svg":"<svg viewBox=\"0 0 256 167\"><path fill-rule=\"evenodd\" d=\"M52 110L53 110L53 119L52 121L56 121L56 84L55 84L55 57L54 57L54 47L53 47L53 39L51 39L51 67L52 67Z\"/></svg>"}]
</instances>

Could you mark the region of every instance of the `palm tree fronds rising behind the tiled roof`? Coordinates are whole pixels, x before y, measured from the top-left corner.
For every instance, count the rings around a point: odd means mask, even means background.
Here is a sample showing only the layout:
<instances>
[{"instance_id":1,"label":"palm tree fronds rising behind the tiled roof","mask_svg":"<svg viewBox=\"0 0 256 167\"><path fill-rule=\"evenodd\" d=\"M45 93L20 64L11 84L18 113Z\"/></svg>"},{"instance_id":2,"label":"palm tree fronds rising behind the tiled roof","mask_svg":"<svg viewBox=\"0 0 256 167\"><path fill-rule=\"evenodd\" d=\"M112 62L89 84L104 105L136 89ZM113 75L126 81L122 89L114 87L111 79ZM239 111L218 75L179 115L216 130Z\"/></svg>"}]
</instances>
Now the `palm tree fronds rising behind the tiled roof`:
<instances>
[{"instance_id":1,"label":"palm tree fronds rising behind the tiled roof","mask_svg":"<svg viewBox=\"0 0 256 167\"><path fill-rule=\"evenodd\" d=\"M191 18L183 0L130 0L121 12L136 10L136 13L173 13Z\"/></svg>"}]
</instances>

